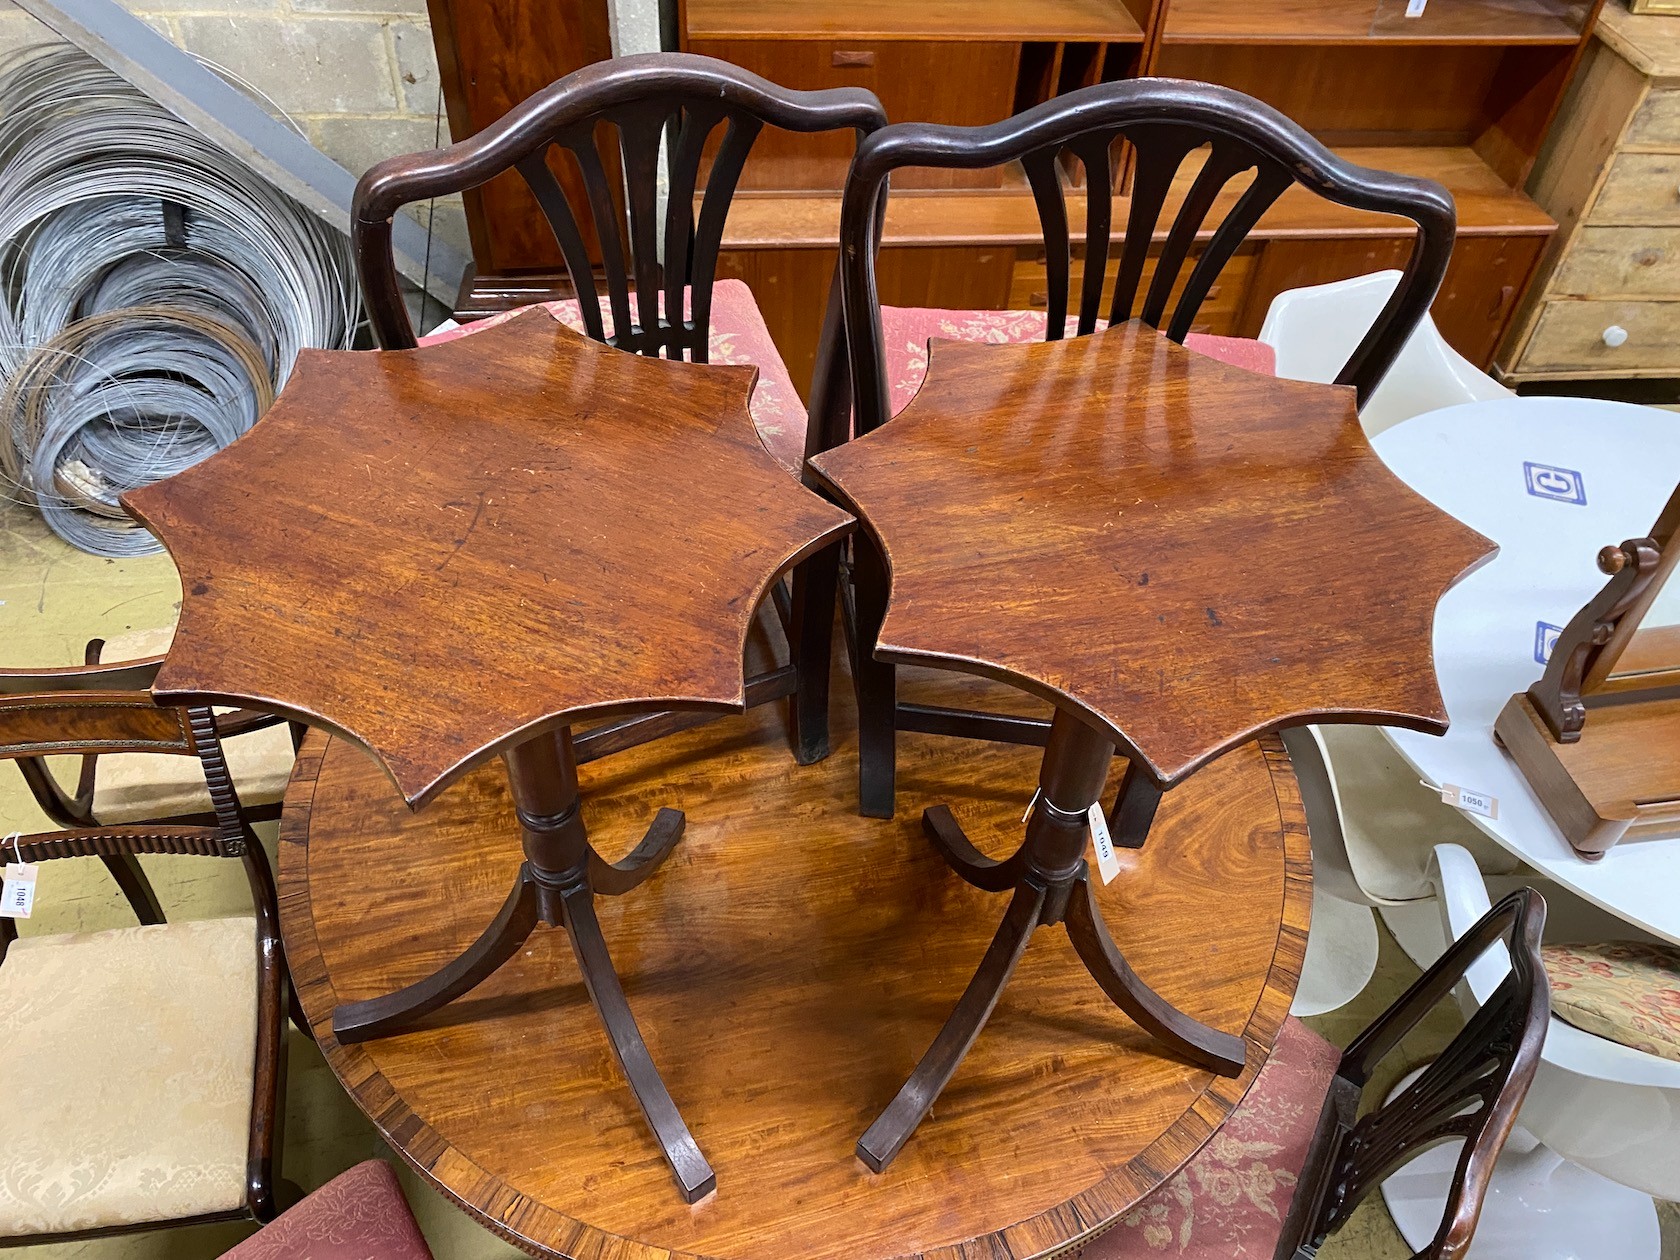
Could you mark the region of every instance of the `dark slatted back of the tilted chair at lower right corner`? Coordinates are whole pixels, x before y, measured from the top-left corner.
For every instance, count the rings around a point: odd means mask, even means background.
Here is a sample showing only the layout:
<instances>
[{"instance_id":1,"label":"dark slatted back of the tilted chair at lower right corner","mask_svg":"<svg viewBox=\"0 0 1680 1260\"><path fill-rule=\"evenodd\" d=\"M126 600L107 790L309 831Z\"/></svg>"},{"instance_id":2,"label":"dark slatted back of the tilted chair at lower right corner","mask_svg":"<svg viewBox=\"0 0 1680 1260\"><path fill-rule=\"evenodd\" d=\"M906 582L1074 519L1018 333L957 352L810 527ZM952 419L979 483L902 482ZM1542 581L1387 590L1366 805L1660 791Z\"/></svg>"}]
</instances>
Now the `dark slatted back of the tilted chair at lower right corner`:
<instances>
[{"instance_id":1,"label":"dark slatted back of the tilted chair at lower right corner","mask_svg":"<svg viewBox=\"0 0 1680 1260\"><path fill-rule=\"evenodd\" d=\"M1441 1226L1415 1260L1446 1260L1470 1247L1494 1161L1541 1063L1551 986L1541 961L1546 902L1519 889L1490 909L1401 998L1366 1028L1331 1085L1312 1154L1284 1223L1278 1257L1317 1255L1326 1236L1401 1164L1448 1141L1463 1141ZM1441 1055L1404 1090L1359 1117L1359 1097L1376 1065L1463 979L1488 949L1510 969Z\"/></svg>"}]
</instances>

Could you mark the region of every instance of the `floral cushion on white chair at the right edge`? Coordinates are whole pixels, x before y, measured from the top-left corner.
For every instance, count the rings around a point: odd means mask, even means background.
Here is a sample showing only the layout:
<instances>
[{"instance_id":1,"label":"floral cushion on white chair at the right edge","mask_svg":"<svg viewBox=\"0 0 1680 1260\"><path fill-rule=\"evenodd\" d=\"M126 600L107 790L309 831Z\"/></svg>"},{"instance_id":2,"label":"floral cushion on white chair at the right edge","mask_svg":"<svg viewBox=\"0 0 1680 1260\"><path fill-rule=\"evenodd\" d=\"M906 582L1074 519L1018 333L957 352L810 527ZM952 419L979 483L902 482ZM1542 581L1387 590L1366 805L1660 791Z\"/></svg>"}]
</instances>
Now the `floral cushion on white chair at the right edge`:
<instances>
[{"instance_id":1,"label":"floral cushion on white chair at the right edge","mask_svg":"<svg viewBox=\"0 0 1680 1260\"><path fill-rule=\"evenodd\" d=\"M1552 1015L1618 1045L1680 1063L1680 949L1646 941L1549 944Z\"/></svg>"}]
</instances>

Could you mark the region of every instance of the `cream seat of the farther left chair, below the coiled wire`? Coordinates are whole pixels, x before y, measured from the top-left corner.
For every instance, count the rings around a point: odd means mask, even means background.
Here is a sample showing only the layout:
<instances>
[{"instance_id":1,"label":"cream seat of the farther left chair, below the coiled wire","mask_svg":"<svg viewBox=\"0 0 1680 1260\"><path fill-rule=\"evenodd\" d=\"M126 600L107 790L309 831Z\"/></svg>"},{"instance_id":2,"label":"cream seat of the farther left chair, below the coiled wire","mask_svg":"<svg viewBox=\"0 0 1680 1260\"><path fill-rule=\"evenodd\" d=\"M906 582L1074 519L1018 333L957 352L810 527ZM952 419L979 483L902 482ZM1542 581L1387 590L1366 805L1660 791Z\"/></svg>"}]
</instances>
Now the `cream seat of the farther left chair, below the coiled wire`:
<instances>
[{"instance_id":1,"label":"cream seat of the farther left chair, below the coiled wire","mask_svg":"<svg viewBox=\"0 0 1680 1260\"><path fill-rule=\"evenodd\" d=\"M131 630L106 640L99 659L139 660L170 650L173 627ZM228 738L223 744L245 806L274 805L292 773L292 736L286 722ZM94 766L92 816L101 823L136 823L210 811L210 790L192 758L111 753Z\"/></svg>"}]
</instances>

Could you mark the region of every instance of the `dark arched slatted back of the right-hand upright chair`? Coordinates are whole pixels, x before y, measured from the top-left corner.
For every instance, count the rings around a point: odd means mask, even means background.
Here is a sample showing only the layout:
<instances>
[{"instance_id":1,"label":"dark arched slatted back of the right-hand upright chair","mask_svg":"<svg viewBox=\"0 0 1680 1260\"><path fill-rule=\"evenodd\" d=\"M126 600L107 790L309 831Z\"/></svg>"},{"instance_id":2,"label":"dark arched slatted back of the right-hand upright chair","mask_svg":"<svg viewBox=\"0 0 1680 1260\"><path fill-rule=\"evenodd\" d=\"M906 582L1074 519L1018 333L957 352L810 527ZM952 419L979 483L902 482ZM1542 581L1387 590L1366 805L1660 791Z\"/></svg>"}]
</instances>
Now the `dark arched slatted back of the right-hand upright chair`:
<instances>
[{"instance_id":1,"label":"dark arched slatted back of the right-hand upright chair","mask_svg":"<svg viewBox=\"0 0 1680 1260\"><path fill-rule=\"evenodd\" d=\"M1104 302L1104 264L1116 228L1116 202L1105 190L1112 186L1121 141L1132 144L1137 163L1119 270ZM1225 264L1260 217L1297 183L1339 205L1401 215L1416 223L1416 244L1399 287L1337 376L1337 383L1354 386L1361 403L1428 311L1453 247L1457 218L1443 186L1344 161L1278 111L1228 87L1131 79L1067 92L988 126L895 123L858 144L840 213L858 433L884 423L890 413L875 252L892 171L1021 163L1045 240L1045 336L1058 339L1068 319L1072 274L1068 205L1058 178L1063 160L1079 161L1087 176L1085 267L1075 307L1079 334L1095 331L1099 318L1110 324L1137 318L1164 328L1173 341L1183 341ZM1235 193L1238 186L1242 192ZM1163 210L1179 188L1178 210L1163 223ZM1213 227L1210 213L1221 198L1230 205ZM1142 289L1151 245L1163 227L1154 279ZM1191 250L1201 240L1201 252L1191 262ZM1186 265L1184 287L1173 301ZM828 440L830 445L845 440L845 433L830 433Z\"/></svg>"}]
</instances>

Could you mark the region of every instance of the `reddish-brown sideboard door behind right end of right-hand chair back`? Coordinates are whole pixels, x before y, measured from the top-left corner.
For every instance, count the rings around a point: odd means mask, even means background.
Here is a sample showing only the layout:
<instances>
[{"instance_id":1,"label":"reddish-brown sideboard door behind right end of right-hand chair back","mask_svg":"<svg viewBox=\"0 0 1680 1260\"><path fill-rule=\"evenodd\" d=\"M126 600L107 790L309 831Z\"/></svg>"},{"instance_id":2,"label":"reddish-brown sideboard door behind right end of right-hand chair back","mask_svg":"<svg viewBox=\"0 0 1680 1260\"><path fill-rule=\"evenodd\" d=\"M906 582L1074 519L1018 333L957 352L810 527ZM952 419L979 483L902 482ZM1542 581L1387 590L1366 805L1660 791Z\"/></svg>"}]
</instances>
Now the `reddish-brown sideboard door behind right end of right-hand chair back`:
<instances>
[{"instance_id":1,"label":"reddish-brown sideboard door behind right end of right-hand chair back","mask_svg":"<svg viewBox=\"0 0 1680 1260\"><path fill-rule=\"evenodd\" d=\"M1494 361L1546 237L1460 237L1430 314L1446 343L1478 368ZM1411 237L1368 240L1268 240L1236 323L1240 336L1258 336L1272 299L1285 289L1346 281L1404 267Z\"/></svg>"}]
</instances>

